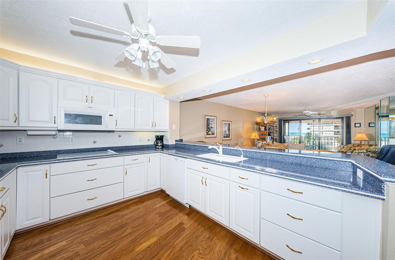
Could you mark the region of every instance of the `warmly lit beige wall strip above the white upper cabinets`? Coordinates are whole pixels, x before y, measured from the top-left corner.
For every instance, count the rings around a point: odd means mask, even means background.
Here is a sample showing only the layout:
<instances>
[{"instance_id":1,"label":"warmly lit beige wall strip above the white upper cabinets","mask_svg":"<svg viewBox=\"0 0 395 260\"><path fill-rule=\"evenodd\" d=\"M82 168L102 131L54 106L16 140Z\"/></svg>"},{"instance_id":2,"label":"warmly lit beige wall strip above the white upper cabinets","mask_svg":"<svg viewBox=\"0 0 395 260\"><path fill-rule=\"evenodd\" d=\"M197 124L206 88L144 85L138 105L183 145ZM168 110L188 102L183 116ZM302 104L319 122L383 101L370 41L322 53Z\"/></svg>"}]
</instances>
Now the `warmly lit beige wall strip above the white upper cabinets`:
<instances>
[{"instance_id":1,"label":"warmly lit beige wall strip above the white upper cabinets","mask_svg":"<svg viewBox=\"0 0 395 260\"><path fill-rule=\"evenodd\" d=\"M0 48L0 57L24 66L41 68L43 70L50 70L53 72L59 72L72 76L83 77L85 79L92 79L100 82L119 85L122 87L129 87L132 89L145 90L153 93L161 92L161 90L157 87L152 87L149 85L144 85L133 81L128 81L126 79L120 79L118 77L105 75L102 73L94 72L92 70L86 70L84 68L78 68L75 66L57 63L55 61L49 61L46 59L41 59L38 57L26 55L19 52L13 52L2 48Z\"/></svg>"}]
</instances>

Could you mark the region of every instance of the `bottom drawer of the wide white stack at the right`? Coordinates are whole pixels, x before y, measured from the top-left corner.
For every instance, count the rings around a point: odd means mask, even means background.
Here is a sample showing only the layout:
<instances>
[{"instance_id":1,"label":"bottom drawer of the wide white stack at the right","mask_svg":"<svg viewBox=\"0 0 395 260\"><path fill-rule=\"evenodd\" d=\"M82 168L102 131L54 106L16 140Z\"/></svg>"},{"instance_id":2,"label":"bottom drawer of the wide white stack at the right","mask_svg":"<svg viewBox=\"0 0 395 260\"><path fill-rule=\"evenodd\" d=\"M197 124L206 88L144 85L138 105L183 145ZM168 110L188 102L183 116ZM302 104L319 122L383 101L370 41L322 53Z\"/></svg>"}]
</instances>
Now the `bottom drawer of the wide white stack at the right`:
<instances>
[{"instance_id":1,"label":"bottom drawer of the wide white stack at the right","mask_svg":"<svg viewBox=\"0 0 395 260\"><path fill-rule=\"evenodd\" d=\"M293 252L287 245L295 251ZM261 219L261 247L291 260L337 260L340 252Z\"/></svg>"}]
</instances>

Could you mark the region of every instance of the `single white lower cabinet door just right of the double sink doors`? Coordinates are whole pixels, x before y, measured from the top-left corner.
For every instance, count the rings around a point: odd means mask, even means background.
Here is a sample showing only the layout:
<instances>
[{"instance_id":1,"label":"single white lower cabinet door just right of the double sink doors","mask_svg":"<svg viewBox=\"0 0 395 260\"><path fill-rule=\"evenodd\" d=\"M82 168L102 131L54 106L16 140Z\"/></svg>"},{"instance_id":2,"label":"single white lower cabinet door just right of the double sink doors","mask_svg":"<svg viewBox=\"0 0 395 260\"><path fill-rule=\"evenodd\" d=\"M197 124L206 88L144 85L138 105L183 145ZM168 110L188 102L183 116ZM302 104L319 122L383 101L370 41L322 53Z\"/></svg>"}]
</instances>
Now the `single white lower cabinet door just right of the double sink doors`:
<instances>
[{"instance_id":1,"label":"single white lower cabinet door just right of the double sink doors","mask_svg":"<svg viewBox=\"0 0 395 260\"><path fill-rule=\"evenodd\" d=\"M229 207L229 227L259 244L259 189L231 181Z\"/></svg>"}]
</instances>

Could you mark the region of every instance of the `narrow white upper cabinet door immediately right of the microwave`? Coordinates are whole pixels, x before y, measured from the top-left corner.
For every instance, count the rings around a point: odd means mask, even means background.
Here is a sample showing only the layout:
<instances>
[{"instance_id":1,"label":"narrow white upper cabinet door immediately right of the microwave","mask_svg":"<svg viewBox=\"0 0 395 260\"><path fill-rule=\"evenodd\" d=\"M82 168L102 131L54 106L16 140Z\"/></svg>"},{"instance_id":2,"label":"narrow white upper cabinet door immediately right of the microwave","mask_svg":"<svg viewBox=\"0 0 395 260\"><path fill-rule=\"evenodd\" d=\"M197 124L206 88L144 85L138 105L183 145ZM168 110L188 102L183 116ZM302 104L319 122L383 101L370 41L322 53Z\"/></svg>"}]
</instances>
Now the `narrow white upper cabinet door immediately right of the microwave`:
<instances>
[{"instance_id":1,"label":"narrow white upper cabinet door immediately right of the microwave","mask_svg":"<svg viewBox=\"0 0 395 260\"><path fill-rule=\"evenodd\" d=\"M132 92L115 90L115 129L134 129L134 102Z\"/></svg>"}]
</instances>

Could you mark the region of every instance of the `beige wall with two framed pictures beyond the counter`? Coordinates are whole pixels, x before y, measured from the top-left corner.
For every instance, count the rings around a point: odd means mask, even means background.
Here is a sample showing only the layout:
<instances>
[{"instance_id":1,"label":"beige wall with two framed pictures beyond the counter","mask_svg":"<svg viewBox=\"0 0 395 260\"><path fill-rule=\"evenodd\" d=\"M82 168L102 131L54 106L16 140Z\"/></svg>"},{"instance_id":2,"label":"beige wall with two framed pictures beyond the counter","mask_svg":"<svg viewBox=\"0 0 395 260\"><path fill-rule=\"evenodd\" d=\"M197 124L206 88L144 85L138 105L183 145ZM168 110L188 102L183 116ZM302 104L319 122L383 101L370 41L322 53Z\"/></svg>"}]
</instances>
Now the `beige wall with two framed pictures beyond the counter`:
<instances>
[{"instance_id":1,"label":"beige wall with two framed pictures beyond the counter","mask_svg":"<svg viewBox=\"0 0 395 260\"><path fill-rule=\"evenodd\" d=\"M217 117L217 138L204 139L204 114ZM225 144L253 145L250 139L252 132L258 130L255 118L262 116L261 112L231 107L204 100L186 101L180 103L180 138L186 141L202 140L206 142L222 142ZM232 121L232 140L222 141L221 120ZM171 125L170 125L171 128Z\"/></svg>"}]
</instances>

